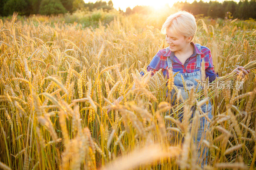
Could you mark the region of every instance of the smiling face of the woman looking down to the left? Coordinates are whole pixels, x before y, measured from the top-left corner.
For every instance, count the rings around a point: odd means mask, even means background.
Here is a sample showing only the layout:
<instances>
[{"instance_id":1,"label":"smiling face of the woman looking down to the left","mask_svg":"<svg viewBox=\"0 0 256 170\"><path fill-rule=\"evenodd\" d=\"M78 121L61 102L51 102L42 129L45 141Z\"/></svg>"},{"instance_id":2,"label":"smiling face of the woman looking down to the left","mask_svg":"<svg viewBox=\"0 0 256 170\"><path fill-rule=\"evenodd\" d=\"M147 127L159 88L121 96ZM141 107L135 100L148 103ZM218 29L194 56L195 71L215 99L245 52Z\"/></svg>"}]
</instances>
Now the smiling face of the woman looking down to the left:
<instances>
[{"instance_id":1,"label":"smiling face of the woman looking down to the left","mask_svg":"<svg viewBox=\"0 0 256 170\"><path fill-rule=\"evenodd\" d=\"M189 42L188 38L183 35L173 35L169 28L166 28L166 36L165 40L167 44L169 44L171 51L179 51L180 49L184 48Z\"/></svg>"}]
</instances>

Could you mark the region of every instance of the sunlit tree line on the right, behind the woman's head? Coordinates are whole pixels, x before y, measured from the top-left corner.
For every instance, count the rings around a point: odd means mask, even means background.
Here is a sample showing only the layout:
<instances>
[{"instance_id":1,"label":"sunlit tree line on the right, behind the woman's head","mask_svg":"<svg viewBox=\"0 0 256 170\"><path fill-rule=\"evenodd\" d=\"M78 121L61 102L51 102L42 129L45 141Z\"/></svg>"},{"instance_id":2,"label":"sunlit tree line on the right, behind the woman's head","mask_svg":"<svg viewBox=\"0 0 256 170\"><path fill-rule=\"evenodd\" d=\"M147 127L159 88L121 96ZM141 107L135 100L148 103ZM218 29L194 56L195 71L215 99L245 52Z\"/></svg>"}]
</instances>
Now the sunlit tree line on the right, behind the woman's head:
<instances>
[{"instance_id":1,"label":"sunlit tree line on the right, behind the woman's head","mask_svg":"<svg viewBox=\"0 0 256 170\"><path fill-rule=\"evenodd\" d=\"M146 13L149 14L153 7L150 6L135 6L133 9L126 8L125 14L132 13ZM234 17L240 19L256 18L256 0L243 0L239 3L235 1L224 1L222 3L218 1L203 2L196 0L193 3L176 2L173 4L170 11L174 9L186 10L194 15L210 16L211 18L225 18ZM166 10L166 9L165 9Z\"/></svg>"}]
</instances>

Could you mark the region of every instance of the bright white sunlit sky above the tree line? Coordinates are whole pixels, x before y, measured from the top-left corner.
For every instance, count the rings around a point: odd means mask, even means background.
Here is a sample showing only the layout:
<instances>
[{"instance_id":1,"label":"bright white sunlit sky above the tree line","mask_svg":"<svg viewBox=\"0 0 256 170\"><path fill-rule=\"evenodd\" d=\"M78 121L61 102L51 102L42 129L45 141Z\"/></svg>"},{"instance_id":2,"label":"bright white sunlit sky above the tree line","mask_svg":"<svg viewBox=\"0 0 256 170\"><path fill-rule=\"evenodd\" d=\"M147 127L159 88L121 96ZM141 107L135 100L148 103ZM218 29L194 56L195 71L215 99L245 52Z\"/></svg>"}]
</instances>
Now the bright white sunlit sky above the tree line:
<instances>
[{"instance_id":1,"label":"bright white sunlit sky above the tree line","mask_svg":"<svg viewBox=\"0 0 256 170\"><path fill-rule=\"evenodd\" d=\"M85 3L92 2L95 3L97 0L84 0ZM102 0L104 1L104 0ZM108 3L109 0L106 0ZM179 0L179 1L185 1L185 0ZM188 3L192 3L194 0L187 0ZM209 2L210 0L203 0L204 2ZM224 0L218 0L219 2L223 2ZM239 2L239 0L234 0L236 2ZM131 9L135 7L136 5L148 5L153 6L155 9L160 9L162 6L168 4L170 7L177 2L177 0L157 0L157 1L150 1L150 0L112 0L113 7L117 10L120 9L125 12L127 7L130 7ZM199 2L199 0L197 0Z\"/></svg>"}]
</instances>

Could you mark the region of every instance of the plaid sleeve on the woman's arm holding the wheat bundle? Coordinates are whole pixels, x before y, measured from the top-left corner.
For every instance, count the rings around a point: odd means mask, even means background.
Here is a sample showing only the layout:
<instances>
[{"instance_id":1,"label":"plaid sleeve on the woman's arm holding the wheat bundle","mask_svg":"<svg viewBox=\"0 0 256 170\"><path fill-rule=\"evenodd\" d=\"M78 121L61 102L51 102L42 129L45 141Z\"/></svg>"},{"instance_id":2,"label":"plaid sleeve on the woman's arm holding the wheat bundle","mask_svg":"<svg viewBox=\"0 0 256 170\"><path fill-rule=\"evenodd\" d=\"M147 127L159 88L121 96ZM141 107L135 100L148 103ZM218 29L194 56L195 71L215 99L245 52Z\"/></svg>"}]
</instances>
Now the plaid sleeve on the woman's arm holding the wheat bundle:
<instances>
[{"instance_id":1,"label":"plaid sleeve on the woman's arm holding the wheat bundle","mask_svg":"<svg viewBox=\"0 0 256 170\"><path fill-rule=\"evenodd\" d=\"M207 68L205 68L205 75L206 78L209 77L209 82L211 83L213 80L215 80L216 77L219 77L219 74L215 72L213 61L212 61L212 53L211 50L208 50L208 54L206 54L205 58L205 64L208 65Z\"/></svg>"}]
</instances>

